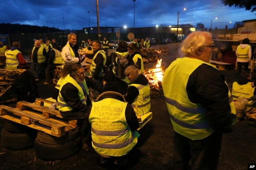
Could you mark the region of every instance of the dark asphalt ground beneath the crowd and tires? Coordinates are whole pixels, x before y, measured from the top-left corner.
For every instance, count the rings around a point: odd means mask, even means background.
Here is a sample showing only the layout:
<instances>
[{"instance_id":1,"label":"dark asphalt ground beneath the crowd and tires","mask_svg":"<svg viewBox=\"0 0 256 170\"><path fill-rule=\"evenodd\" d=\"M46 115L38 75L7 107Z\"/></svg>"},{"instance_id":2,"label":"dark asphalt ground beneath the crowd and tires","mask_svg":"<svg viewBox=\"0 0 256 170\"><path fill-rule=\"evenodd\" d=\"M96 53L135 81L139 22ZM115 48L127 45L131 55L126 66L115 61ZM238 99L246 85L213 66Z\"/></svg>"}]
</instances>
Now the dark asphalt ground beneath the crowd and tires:
<instances>
[{"instance_id":1,"label":"dark asphalt ground beneath the crowd and tires","mask_svg":"<svg viewBox=\"0 0 256 170\"><path fill-rule=\"evenodd\" d=\"M163 55L162 66L168 67L177 57L181 57L181 44L164 45L169 47L169 54ZM109 50L110 52L110 50ZM144 64L145 69L152 68L153 62ZM228 86L237 80L236 70L221 71ZM252 73L256 80L256 73ZM37 82L37 90L41 98L52 95L55 84L44 85L43 80ZM163 91L151 90L152 120L139 130L137 147L128 154L128 165L125 167L113 164L102 166L98 163L98 155L90 152L78 152L67 159L45 161L35 155L34 148L21 151L6 150L0 144L0 170L171 170L173 164L173 126L163 97ZM15 104L10 104L14 106ZM3 128L0 119L0 130ZM237 122L233 132L223 135L219 170L247 170L249 163L256 163L256 123L250 120Z\"/></svg>"}]
</instances>

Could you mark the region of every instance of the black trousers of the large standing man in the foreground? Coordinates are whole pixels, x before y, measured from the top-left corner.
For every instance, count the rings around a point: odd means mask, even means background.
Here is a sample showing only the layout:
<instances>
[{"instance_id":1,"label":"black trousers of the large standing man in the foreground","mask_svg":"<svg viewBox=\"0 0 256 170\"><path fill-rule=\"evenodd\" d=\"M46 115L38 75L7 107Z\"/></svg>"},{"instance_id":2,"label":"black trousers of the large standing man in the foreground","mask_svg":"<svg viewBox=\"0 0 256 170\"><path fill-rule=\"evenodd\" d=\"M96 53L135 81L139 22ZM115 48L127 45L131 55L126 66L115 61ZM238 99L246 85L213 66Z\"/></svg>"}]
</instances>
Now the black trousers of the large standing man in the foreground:
<instances>
[{"instance_id":1,"label":"black trousers of the large standing man in the foreground","mask_svg":"<svg viewBox=\"0 0 256 170\"><path fill-rule=\"evenodd\" d=\"M213 132L204 139L192 140L174 132L173 170L217 170L221 151L221 132Z\"/></svg>"}]
</instances>

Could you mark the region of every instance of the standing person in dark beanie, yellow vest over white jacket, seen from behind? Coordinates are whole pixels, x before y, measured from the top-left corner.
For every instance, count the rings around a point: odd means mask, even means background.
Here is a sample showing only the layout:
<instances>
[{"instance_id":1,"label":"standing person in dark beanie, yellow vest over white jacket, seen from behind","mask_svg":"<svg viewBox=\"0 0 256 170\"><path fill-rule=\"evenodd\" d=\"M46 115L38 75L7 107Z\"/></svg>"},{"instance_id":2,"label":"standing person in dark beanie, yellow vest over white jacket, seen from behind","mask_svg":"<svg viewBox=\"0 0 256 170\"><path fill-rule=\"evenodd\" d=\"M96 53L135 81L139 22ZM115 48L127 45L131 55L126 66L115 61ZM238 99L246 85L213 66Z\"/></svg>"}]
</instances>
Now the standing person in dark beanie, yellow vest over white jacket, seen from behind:
<instances>
[{"instance_id":1,"label":"standing person in dark beanie, yellow vest over white jacket, seen from behind","mask_svg":"<svg viewBox=\"0 0 256 170\"><path fill-rule=\"evenodd\" d=\"M242 66L245 67L245 71L248 70L249 61L252 59L252 48L249 45L250 40L248 38L243 39L242 43L237 46L236 56L237 56L237 70L241 73Z\"/></svg>"}]
</instances>

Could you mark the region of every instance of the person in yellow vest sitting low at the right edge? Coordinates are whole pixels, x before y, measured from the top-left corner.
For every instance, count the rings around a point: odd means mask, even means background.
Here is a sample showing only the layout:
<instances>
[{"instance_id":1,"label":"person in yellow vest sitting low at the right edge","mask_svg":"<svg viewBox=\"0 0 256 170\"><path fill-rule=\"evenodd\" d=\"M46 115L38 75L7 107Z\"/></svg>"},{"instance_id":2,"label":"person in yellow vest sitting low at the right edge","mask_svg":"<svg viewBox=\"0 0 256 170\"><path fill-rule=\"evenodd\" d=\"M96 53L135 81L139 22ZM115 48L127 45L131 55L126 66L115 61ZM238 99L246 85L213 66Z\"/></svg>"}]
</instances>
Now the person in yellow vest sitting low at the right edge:
<instances>
[{"instance_id":1,"label":"person in yellow vest sitting low at the right edge","mask_svg":"<svg viewBox=\"0 0 256 170\"><path fill-rule=\"evenodd\" d=\"M249 114L256 113L256 108L253 107L253 99L256 94L256 90L254 88L254 83L250 82L252 79L252 75L249 71L243 71L237 82L233 83L232 86L232 96L236 106L236 117L237 121L240 121L246 118ZM242 101L246 100L246 104L242 103ZM241 108L241 106L244 106Z\"/></svg>"}]
</instances>

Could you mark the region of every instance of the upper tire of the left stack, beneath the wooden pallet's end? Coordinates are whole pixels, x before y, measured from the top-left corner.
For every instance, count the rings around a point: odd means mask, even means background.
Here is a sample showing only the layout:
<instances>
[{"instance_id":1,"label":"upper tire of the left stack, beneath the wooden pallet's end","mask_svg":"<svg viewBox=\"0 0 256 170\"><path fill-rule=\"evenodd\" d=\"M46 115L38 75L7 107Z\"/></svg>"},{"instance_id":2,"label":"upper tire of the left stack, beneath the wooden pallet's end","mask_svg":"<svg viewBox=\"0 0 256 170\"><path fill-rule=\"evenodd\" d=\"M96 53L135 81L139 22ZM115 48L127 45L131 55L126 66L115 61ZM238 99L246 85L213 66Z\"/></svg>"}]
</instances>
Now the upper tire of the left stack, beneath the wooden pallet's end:
<instances>
[{"instance_id":1,"label":"upper tire of the left stack, beneath the wooden pallet's end","mask_svg":"<svg viewBox=\"0 0 256 170\"><path fill-rule=\"evenodd\" d=\"M4 128L10 133L37 133L37 130L13 121L4 121Z\"/></svg>"}]
</instances>

